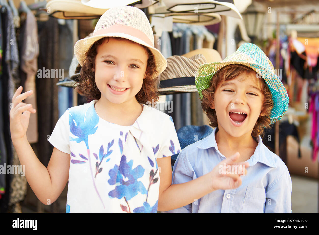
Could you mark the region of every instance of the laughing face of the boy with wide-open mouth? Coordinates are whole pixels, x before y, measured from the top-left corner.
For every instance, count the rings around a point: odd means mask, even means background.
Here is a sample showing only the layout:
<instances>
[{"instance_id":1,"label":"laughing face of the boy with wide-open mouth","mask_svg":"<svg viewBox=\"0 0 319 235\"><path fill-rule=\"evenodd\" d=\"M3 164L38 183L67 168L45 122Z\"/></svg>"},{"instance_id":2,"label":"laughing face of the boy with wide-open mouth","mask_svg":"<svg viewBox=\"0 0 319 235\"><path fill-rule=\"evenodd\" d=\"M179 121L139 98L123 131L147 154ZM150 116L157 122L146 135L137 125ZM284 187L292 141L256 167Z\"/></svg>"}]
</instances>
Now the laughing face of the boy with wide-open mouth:
<instances>
[{"instance_id":1,"label":"laughing face of the boy with wide-open mouth","mask_svg":"<svg viewBox=\"0 0 319 235\"><path fill-rule=\"evenodd\" d=\"M263 115L264 97L257 79L255 73L243 73L218 85L210 107L216 110L219 129L224 129L233 137L251 134L259 115Z\"/></svg>"}]
</instances>

